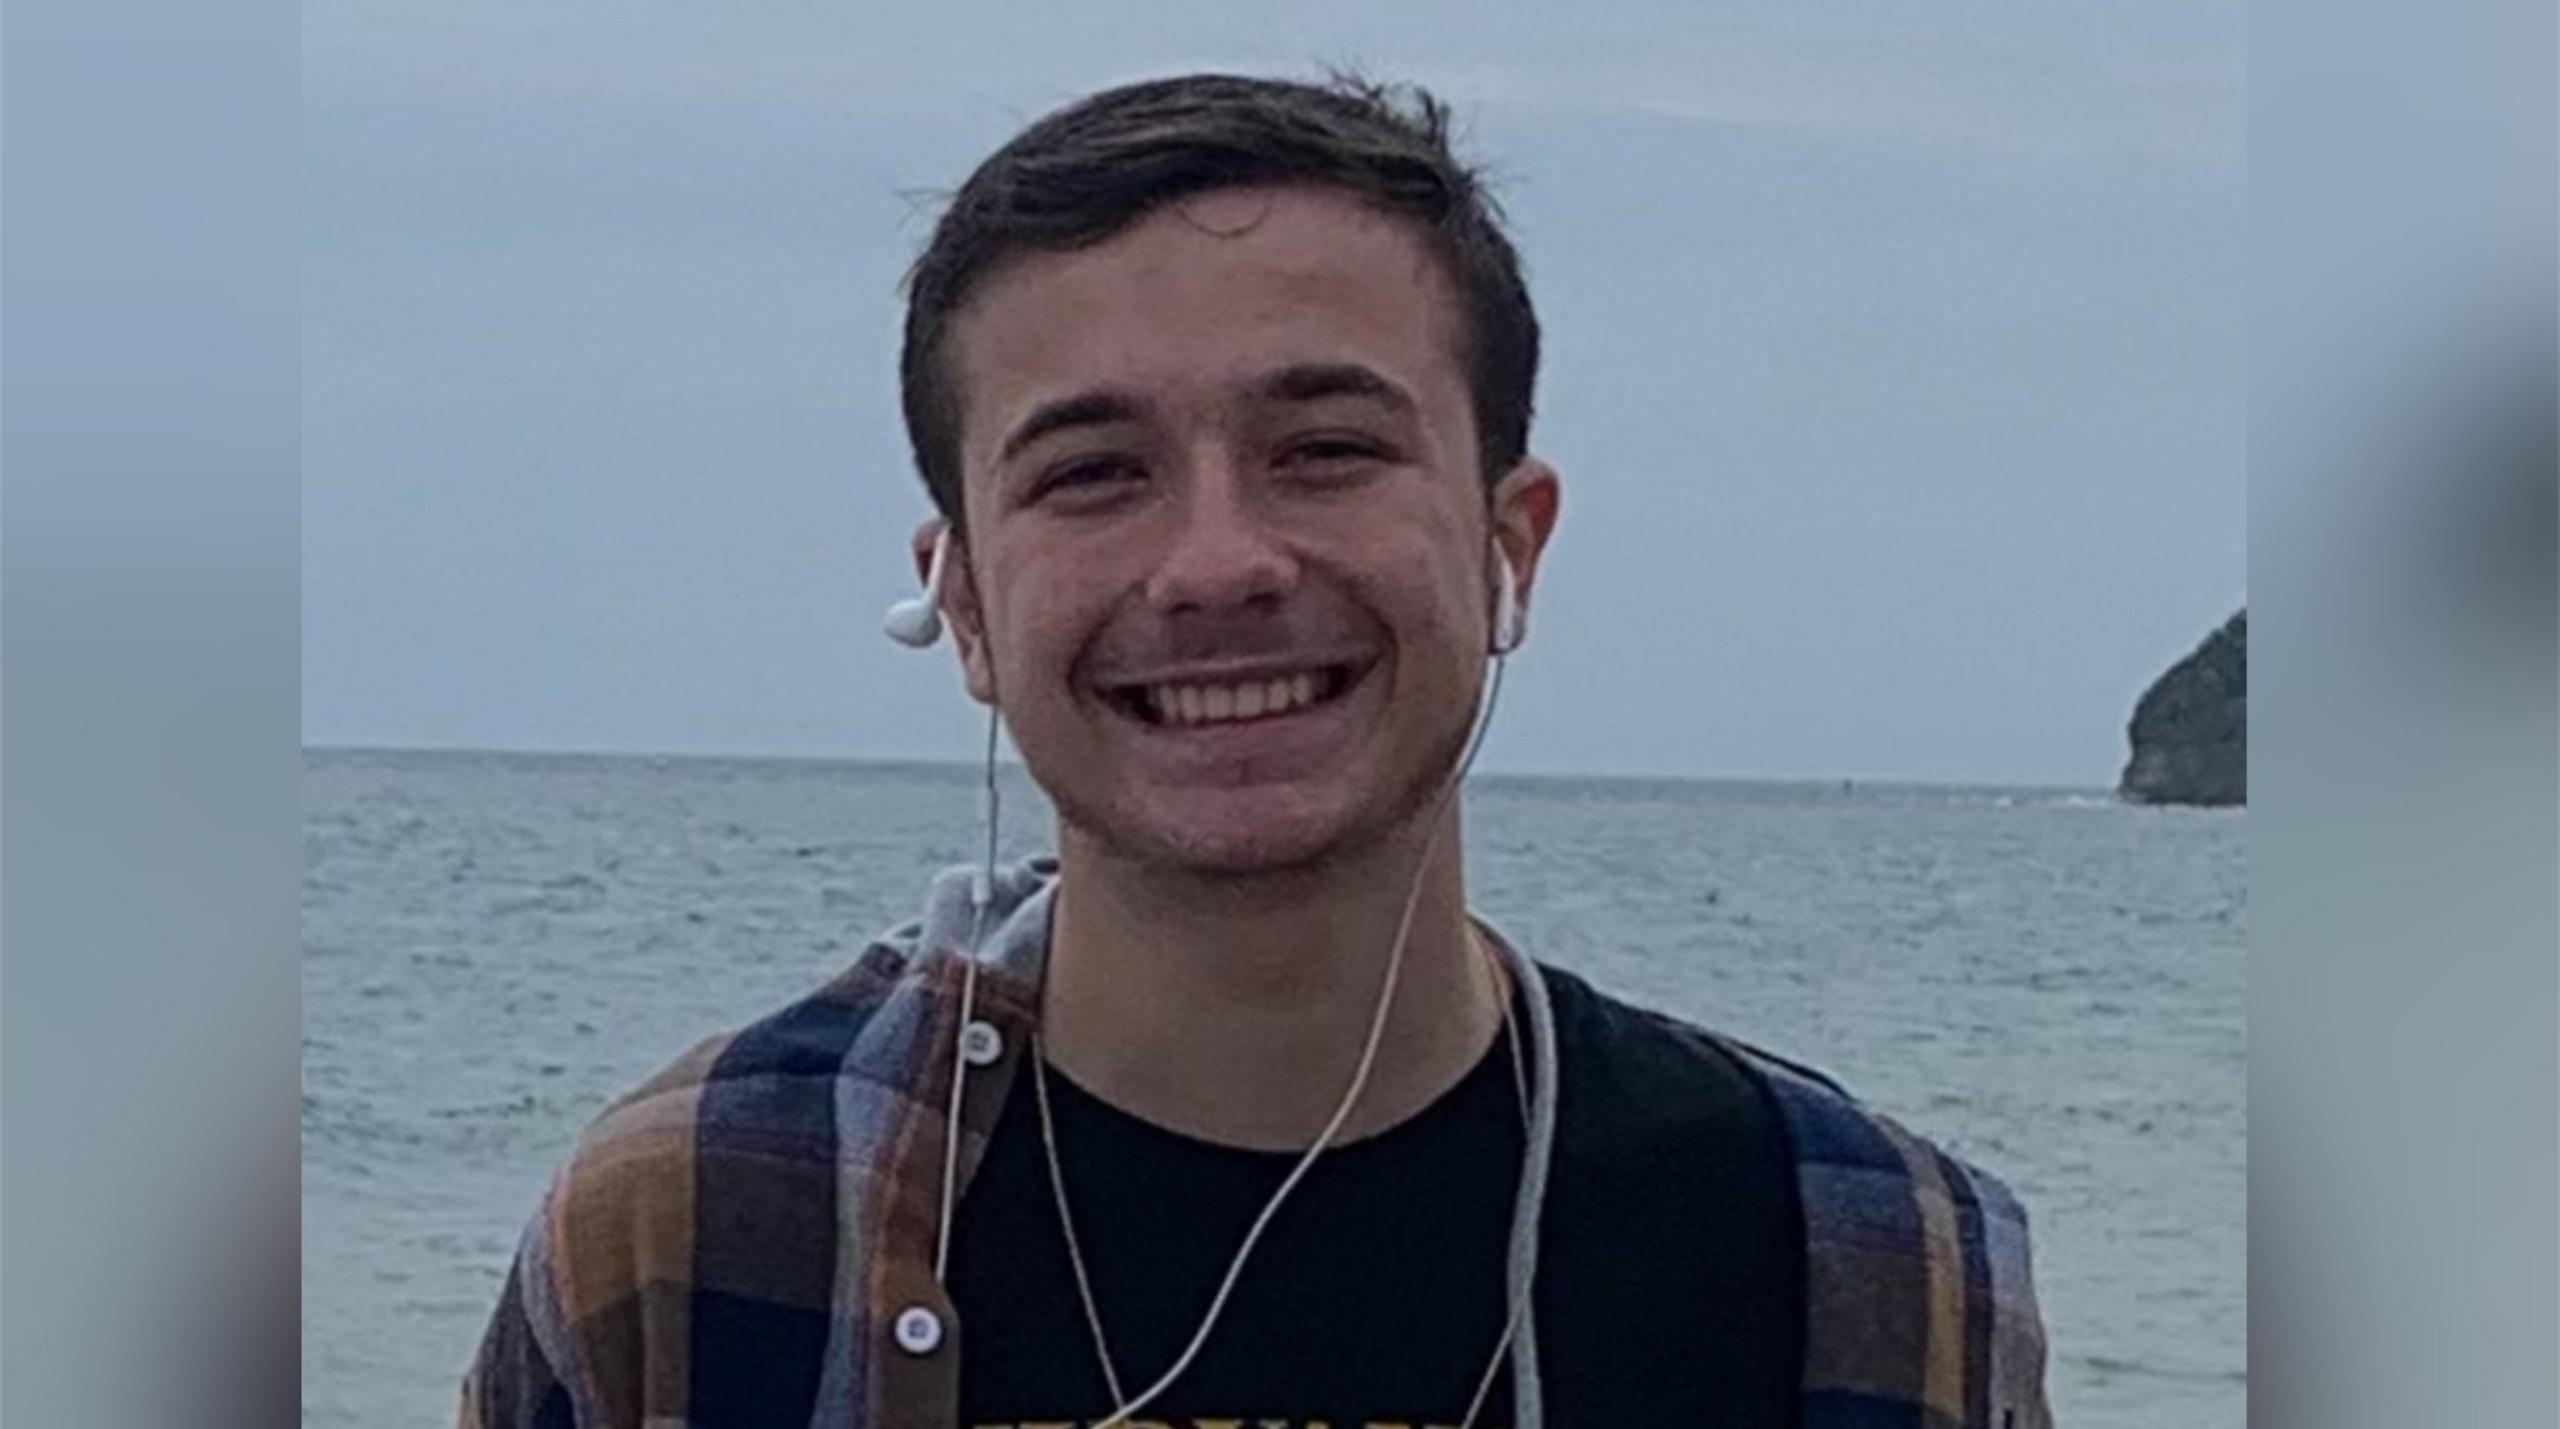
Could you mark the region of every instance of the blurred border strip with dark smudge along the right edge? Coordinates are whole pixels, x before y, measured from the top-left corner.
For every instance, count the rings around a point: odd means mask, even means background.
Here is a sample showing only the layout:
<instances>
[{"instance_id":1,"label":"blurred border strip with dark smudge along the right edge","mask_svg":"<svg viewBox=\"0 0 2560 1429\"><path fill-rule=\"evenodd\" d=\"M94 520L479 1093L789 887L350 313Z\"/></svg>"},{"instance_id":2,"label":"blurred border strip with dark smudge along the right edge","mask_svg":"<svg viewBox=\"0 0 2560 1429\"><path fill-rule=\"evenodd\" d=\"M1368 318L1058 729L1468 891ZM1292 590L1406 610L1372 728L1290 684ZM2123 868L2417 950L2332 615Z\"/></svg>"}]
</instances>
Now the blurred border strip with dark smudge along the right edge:
<instances>
[{"instance_id":1,"label":"blurred border strip with dark smudge along the right edge","mask_svg":"<svg viewBox=\"0 0 2560 1429\"><path fill-rule=\"evenodd\" d=\"M2250 1406L2555 1424L2552 5L2250 10Z\"/></svg>"}]
</instances>

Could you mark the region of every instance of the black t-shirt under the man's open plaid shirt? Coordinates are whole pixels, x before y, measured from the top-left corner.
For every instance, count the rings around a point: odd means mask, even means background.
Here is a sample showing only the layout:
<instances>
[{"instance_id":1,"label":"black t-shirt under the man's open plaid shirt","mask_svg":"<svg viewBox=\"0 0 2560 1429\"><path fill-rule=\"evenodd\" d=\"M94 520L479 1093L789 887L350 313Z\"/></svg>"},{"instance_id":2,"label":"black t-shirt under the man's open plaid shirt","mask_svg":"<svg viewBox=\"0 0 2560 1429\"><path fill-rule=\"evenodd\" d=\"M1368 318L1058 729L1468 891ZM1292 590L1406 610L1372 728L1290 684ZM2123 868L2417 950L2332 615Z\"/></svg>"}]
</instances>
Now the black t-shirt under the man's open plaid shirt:
<instances>
[{"instance_id":1,"label":"black t-shirt under the man's open plaid shirt","mask_svg":"<svg viewBox=\"0 0 2560 1429\"><path fill-rule=\"evenodd\" d=\"M1546 1421L1792 1426L1802 1211L1766 1094L1679 1024L1569 973L1549 968L1546 986L1564 1078L1536 1291ZM1055 1068L1050 1106L1111 1357L1139 1393L1190 1342L1298 1158L1167 1132ZM1201 1357L1139 1421L1459 1424L1503 1334L1521 1147L1513 1060L1495 1040L1421 1114L1316 1163ZM950 1286L965 1429L1083 1426L1111 1411L1029 1068L960 1201ZM1505 1365L1477 1424L1510 1421Z\"/></svg>"}]
</instances>

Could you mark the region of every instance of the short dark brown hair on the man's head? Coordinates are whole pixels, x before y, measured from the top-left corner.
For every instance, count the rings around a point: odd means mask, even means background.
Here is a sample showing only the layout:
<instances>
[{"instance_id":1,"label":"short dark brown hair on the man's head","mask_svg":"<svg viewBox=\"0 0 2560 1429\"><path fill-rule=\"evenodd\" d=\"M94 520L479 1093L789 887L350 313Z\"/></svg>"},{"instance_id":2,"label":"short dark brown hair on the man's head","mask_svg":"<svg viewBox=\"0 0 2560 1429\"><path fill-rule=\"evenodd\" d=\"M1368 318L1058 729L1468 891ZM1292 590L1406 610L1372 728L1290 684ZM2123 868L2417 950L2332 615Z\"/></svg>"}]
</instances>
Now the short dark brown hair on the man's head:
<instances>
[{"instance_id":1,"label":"short dark brown hair on the man's head","mask_svg":"<svg viewBox=\"0 0 2560 1429\"><path fill-rule=\"evenodd\" d=\"M1413 85L1185 74L1103 90L1014 136L952 195L906 274L899 387L916 471L960 525L952 320L1004 259L1101 243L1167 202L1242 184L1324 184L1405 218L1464 323L1477 461L1498 481L1528 451L1539 315L1482 172L1449 149L1449 105Z\"/></svg>"}]
</instances>

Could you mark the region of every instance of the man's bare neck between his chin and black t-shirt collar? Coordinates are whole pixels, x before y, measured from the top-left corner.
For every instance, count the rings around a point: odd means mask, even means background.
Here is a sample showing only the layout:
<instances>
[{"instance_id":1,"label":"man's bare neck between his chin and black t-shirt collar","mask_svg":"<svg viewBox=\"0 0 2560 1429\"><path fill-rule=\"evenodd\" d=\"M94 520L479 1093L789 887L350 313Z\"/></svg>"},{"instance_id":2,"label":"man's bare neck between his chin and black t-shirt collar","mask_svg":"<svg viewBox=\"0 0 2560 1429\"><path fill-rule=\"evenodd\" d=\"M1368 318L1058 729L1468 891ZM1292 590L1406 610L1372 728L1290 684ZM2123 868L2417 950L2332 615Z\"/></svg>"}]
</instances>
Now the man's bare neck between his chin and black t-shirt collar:
<instances>
[{"instance_id":1,"label":"man's bare neck between his chin and black t-shirt collar","mask_svg":"<svg viewBox=\"0 0 2560 1429\"><path fill-rule=\"evenodd\" d=\"M1439 817L1436 840L1423 825L1354 860L1254 878L1134 866L1060 830L1050 1063L1190 1137L1306 1147L1352 1083L1413 896L1377 1060L1336 1145L1413 1117L1485 1055L1505 996L1467 924L1457 799Z\"/></svg>"}]
</instances>

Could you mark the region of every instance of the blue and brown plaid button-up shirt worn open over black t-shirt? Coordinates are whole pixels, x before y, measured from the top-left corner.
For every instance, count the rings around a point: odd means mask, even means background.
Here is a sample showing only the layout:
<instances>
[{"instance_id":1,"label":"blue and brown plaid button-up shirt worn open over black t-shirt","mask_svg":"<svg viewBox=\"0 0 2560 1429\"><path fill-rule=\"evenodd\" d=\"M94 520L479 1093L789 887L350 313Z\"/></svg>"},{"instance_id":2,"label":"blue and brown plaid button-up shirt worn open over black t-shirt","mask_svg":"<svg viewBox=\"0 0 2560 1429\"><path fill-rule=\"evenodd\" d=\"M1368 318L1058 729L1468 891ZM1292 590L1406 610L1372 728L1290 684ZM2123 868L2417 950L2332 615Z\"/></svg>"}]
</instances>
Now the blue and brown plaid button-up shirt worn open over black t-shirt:
<instances>
[{"instance_id":1,"label":"blue and brown plaid button-up shirt worn open over black t-shirt","mask_svg":"<svg viewBox=\"0 0 2560 1429\"><path fill-rule=\"evenodd\" d=\"M998 878L1014 912L978 973L993 1060L963 1094L963 1188L1029 1047L1050 868ZM596 1119L525 1229L463 1429L957 1424L960 1316L932 1265L968 942L952 891ZM1718 1045L1764 1078L1795 1150L1805 1426L2051 1429L2007 1188L1818 1073Z\"/></svg>"}]
</instances>

